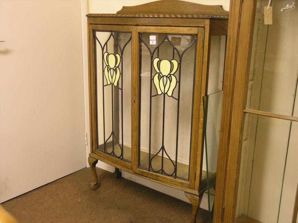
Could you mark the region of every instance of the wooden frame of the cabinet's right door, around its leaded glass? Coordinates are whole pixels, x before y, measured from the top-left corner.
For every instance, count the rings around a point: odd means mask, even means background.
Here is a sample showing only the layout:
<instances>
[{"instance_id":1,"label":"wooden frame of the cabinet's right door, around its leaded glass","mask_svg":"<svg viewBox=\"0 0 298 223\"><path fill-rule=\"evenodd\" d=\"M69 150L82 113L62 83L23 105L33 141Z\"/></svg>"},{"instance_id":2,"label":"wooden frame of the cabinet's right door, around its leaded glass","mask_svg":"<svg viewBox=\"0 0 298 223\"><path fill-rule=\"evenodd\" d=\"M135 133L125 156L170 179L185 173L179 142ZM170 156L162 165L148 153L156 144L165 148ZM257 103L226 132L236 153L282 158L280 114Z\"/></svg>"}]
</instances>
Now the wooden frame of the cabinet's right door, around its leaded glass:
<instances>
[{"instance_id":1,"label":"wooden frame of the cabinet's right door, around its leaded glass","mask_svg":"<svg viewBox=\"0 0 298 223\"><path fill-rule=\"evenodd\" d=\"M139 108L139 33L167 33L167 34L195 34L197 35L197 48L196 48L196 60L195 60L195 81L194 81L194 101L193 101L193 125L192 125L192 138L191 138L191 154L190 154L190 179L182 180L179 178L173 178L170 176L165 176L156 172L149 172L148 170L139 168L139 117L140 117L140 108ZM136 174L144 175L156 180L162 180L167 183L173 183L179 186L187 187L194 189L196 171L196 162L197 162L197 150L198 150L198 129L199 129L199 115L200 115L200 106L201 103L201 79L202 79L202 60L203 60L203 44L204 44L204 28L202 27L164 27L164 26L136 26L133 34L133 46L137 52L134 57L133 63L133 81L132 89L134 93L132 94L132 116L135 117L132 121L132 151L136 151L134 155L132 154L132 169ZM197 62L198 61L198 62ZM197 130L197 131L196 131ZM200 147L201 148L201 147Z\"/></svg>"}]
</instances>

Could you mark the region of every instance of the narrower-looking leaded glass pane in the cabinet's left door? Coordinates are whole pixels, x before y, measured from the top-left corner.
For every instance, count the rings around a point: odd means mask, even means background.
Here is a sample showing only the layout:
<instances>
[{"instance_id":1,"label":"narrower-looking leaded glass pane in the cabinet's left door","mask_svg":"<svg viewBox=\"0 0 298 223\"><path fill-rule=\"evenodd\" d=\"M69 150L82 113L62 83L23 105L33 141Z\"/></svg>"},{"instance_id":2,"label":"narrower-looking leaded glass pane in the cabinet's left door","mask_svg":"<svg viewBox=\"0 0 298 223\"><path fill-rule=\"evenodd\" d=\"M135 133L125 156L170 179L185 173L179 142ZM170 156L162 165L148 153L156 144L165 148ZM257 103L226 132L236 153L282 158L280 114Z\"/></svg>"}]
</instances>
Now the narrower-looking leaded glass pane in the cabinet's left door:
<instances>
[{"instance_id":1,"label":"narrower-looking leaded glass pane in the cabinet's left door","mask_svg":"<svg viewBox=\"0 0 298 223\"><path fill-rule=\"evenodd\" d=\"M97 148L131 161L131 33L94 32Z\"/></svg>"}]
</instances>

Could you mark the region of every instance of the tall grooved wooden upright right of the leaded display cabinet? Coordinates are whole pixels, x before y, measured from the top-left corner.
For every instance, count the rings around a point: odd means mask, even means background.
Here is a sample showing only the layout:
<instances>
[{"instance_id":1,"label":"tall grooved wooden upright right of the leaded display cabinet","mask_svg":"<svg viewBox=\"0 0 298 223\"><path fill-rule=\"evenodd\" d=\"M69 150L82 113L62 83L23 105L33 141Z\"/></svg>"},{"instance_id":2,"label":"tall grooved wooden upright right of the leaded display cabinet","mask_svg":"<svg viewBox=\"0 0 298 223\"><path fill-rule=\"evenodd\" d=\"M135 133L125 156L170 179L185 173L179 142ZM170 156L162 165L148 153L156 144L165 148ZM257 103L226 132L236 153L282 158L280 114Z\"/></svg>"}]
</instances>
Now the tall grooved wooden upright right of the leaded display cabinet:
<instances>
[{"instance_id":1,"label":"tall grooved wooden upright right of the leaded display cabinet","mask_svg":"<svg viewBox=\"0 0 298 223\"><path fill-rule=\"evenodd\" d=\"M247 79L249 76L256 0L231 0L226 48L225 81L229 106L227 128L221 129L223 143L218 151L218 175L214 203L214 222L235 222L244 125ZM223 113L223 114L224 114ZM224 127L222 126L222 127ZM221 128L222 128L221 127Z\"/></svg>"}]
</instances>

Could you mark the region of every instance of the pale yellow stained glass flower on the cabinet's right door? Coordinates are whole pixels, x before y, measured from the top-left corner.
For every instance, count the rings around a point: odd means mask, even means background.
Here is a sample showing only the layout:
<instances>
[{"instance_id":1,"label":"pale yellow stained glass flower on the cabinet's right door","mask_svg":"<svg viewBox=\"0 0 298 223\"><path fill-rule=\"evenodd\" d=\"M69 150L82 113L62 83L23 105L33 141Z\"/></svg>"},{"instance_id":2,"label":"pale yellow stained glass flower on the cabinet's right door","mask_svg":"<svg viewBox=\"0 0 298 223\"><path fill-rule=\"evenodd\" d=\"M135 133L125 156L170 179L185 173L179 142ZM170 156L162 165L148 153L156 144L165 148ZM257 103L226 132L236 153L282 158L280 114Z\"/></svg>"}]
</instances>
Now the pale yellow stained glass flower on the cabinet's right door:
<instances>
[{"instance_id":1,"label":"pale yellow stained glass flower on the cabinet's right door","mask_svg":"<svg viewBox=\"0 0 298 223\"><path fill-rule=\"evenodd\" d=\"M156 57L153 60L153 67L157 72L153 76L153 83L156 87L157 94L167 94L171 97L177 85L177 79L173 74L178 69L178 62L175 59L161 60Z\"/></svg>"}]
</instances>

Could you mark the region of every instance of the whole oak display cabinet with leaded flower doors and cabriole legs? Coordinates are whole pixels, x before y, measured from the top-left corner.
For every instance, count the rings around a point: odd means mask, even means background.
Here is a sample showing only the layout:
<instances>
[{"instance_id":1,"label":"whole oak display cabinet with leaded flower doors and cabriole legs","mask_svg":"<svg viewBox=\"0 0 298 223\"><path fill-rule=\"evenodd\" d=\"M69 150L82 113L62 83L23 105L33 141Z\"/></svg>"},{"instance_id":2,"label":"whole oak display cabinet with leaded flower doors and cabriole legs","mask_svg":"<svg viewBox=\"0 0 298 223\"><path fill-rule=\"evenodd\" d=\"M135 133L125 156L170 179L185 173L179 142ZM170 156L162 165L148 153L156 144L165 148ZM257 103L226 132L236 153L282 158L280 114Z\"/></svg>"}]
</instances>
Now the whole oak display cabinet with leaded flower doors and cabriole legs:
<instances>
[{"instance_id":1,"label":"whole oak display cabinet with leaded flower doors and cabriole legs","mask_svg":"<svg viewBox=\"0 0 298 223\"><path fill-rule=\"evenodd\" d=\"M162 0L87 17L90 189L100 160L185 191L195 222L206 164L216 181L228 12Z\"/></svg>"}]
</instances>

